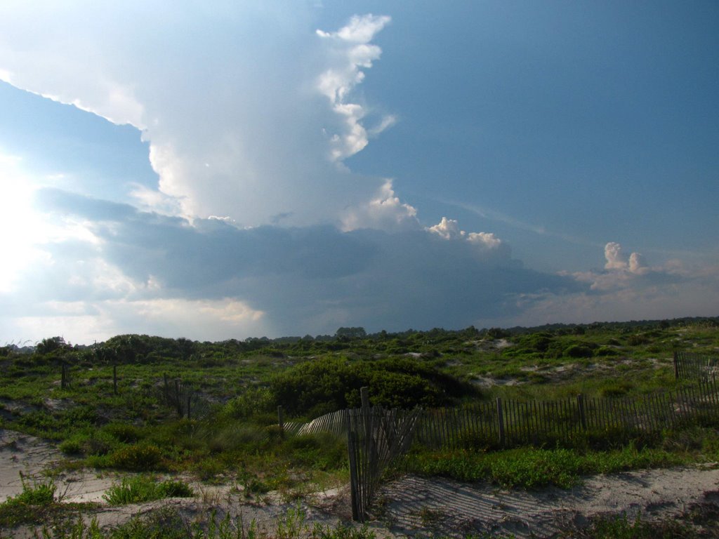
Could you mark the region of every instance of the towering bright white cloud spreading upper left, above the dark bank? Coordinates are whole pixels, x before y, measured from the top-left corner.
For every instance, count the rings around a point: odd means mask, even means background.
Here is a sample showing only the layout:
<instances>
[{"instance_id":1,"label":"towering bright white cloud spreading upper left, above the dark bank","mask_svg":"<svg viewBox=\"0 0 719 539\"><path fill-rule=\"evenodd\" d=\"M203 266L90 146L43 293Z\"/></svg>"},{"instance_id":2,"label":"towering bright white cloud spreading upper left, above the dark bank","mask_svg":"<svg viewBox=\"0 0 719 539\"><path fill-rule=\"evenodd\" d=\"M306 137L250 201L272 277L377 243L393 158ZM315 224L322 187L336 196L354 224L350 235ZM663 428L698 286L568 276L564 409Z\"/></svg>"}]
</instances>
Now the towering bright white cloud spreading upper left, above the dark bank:
<instances>
[{"instance_id":1,"label":"towering bright white cloud spreading upper left, above the dark bank","mask_svg":"<svg viewBox=\"0 0 719 539\"><path fill-rule=\"evenodd\" d=\"M131 188L143 208L242 226L278 214L287 226L339 225L383 188L337 165L396 121L354 95L389 17L325 31L302 2L46 8L29 24L27 6L0 6L4 78L141 129L159 176Z\"/></svg>"}]
</instances>

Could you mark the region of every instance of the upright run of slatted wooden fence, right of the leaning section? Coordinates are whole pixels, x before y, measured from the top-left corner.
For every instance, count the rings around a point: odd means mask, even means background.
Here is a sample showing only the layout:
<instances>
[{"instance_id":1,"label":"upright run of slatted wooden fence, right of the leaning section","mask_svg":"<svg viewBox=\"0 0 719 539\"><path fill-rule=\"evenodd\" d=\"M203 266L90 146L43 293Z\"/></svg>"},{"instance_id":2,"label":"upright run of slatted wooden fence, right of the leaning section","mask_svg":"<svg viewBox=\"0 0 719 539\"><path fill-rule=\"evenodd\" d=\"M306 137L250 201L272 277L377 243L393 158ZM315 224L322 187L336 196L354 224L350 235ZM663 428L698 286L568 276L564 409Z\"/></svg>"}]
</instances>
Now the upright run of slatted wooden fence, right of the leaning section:
<instances>
[{"instance_id":1,"label":"upright run of slatted wooden fence, right of the leaning section","mask_svg":"<svg viewBox=\"0 0 719 539\"><path fill-rule=\"evenodd\" d=\"M705 380L676 391L637 397L549 401L496 399L425 410L415 440L446 449L506 448L569 442L582 434L654 433L683 425L719 423L719 382Z\"/></svg>"}]
</instances>

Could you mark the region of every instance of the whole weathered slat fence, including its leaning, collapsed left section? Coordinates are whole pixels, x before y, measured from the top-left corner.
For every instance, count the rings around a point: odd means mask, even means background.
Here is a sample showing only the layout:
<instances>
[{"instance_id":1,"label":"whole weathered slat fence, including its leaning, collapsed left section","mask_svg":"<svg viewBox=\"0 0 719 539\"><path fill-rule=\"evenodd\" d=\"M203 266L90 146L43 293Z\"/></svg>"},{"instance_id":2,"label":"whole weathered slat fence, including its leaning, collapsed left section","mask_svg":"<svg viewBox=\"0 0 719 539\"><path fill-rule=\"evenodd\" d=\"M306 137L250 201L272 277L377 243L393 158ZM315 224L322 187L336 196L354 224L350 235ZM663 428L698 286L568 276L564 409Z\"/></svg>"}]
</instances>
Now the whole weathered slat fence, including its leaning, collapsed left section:
<instances>
[{"instance_id":1,"label":"whole weathered slat fence, including its leaning, collapsed left section","mask_svg":"<svg viewBox=\"0 0 719 539\"><path fill-rule=\"evenodd\" d=\"M638 397L559 400L495 399L434 410L362 407L322 415L308 423L284 423L283 433L347 435L352 517L363 521L380 476L411 443L435 449L508 448L572 442L580 436L616 441L687 425L719 424L719 381L702 379L674 391Z\"/></svg>"}]
</instances>

